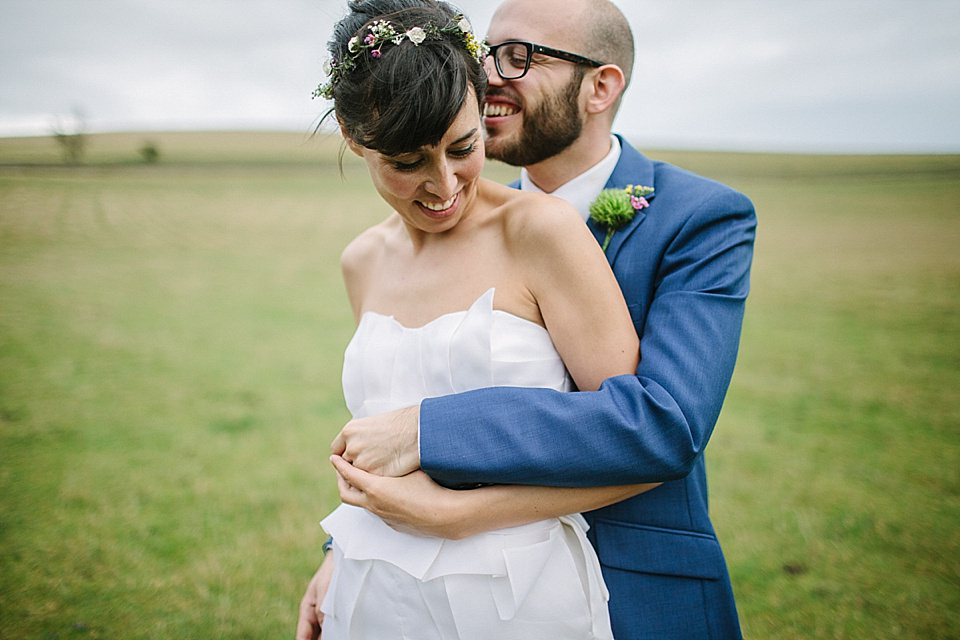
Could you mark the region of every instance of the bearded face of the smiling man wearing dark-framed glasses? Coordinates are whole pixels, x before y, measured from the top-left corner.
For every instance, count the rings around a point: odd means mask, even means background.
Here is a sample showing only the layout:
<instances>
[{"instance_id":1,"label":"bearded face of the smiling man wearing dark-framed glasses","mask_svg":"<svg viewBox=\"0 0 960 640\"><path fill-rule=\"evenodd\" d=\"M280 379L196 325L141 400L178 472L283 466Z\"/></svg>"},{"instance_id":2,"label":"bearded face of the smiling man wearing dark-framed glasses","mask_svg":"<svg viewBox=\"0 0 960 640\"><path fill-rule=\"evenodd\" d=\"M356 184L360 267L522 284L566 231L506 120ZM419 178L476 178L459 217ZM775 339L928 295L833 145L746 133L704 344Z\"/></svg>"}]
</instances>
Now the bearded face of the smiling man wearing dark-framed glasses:
<instances>
[{"instance_id":1,"label":"bearded face of the smiling man wearing dark-framed glasses","mask_svg":"<svg viewBox=\"0 0 960 640\"><path fill-rule=\"evenodd\" d=\"M563 15L557 19L557 15ZM537 0L508 0L496 12L487 40L534 42L576 50L558 7ZM575 33L575 32L574 32ZM583 129L581 87L584 68L535 54L522 78L504 80L488 58L490 85L484 100L487 157L514 166L530 166L551 158L573 144Z\"/></svg>"}]
</instances>

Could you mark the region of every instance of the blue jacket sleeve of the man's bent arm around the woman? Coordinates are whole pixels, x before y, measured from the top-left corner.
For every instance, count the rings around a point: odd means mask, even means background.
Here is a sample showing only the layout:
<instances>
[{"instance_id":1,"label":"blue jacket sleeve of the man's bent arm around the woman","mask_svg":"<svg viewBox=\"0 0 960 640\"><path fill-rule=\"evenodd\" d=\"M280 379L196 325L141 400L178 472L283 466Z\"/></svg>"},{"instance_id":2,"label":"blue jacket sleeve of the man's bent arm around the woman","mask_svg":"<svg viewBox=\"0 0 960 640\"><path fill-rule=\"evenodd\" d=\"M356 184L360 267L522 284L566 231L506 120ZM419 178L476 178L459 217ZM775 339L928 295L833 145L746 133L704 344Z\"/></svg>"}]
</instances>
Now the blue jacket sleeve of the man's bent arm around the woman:
<instances>
[{"instance_id":1,"label":"blue jacket sleeve of the man's bent arm around the woman","mask_svg":"<svg viewBox=\"0 0 960 640\"><path fill-rule=\"evenodd\" d=\"M424 471L446 486L607 486L686 476L733 374L755 228L750 201L724 190L698 203L665 243L649 309L634 315L636 375L610 378L593 392L499 387L424 400ZM650 267L628 250L615 271L628 306L643 306L630 271Z\"/></svg>"}]
</instances>

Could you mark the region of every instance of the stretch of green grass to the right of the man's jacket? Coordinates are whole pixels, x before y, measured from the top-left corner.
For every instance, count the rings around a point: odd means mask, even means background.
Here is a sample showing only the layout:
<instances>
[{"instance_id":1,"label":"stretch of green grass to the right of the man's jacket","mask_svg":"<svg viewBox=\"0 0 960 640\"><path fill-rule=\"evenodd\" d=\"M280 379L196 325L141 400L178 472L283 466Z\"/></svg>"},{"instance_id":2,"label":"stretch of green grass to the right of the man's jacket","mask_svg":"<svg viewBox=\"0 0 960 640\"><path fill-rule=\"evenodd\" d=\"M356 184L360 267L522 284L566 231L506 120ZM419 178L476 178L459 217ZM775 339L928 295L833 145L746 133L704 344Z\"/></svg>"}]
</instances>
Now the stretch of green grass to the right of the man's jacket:
<instances>
[{"instance_id":1,"label":"stretch of green grass to the right of the man's jacket","mask_svg":"<svg viewBox=\"0 0 960 640\"><path fill-rule=\"evenodd\" d=\"M712 510L750 637L953 638L960 163L850 163L739 185L759 240Z\"/></svg>"}]
</instances>

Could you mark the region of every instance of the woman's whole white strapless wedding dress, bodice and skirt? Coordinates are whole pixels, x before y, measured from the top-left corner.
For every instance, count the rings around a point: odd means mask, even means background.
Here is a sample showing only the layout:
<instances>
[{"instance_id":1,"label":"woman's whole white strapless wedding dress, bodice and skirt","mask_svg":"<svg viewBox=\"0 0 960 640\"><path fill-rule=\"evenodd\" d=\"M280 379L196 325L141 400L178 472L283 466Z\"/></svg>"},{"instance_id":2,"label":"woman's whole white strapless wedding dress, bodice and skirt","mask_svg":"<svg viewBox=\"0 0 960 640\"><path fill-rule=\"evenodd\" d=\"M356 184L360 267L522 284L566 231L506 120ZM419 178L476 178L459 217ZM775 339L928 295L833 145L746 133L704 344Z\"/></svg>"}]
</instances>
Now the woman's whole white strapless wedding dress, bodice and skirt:
<instances>
[{"instance_id":1,"label":"woman's whole white strapless wedding dress, bodice and skirt","mask_svg":"<svg viewBox=\"0 0 960 640\"><path fill-rule=\"evenodd\" d=\"M419 328L364 314L344 356L351 413L489 386L570 390L547 331L494 310L493 295ZM322 524L335 554L321 606L324 640L613 637L607 590L579 515L464 540L400 533L348 505Z\"/></svg>"}]
</instances>

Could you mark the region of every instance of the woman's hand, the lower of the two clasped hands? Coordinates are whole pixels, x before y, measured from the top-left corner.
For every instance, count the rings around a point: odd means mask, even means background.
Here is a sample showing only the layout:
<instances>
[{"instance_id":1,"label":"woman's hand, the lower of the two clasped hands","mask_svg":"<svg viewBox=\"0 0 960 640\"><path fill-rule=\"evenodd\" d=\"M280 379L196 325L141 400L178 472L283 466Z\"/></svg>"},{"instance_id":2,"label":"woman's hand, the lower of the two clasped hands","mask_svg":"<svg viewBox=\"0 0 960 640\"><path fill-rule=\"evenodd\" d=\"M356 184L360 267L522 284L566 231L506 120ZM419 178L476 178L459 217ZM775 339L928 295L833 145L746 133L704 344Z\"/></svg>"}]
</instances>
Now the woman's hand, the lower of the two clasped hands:
<instances>
[{"instance_id":1,"label":"woman's hand, the lower of the two clasped hands","mask_svg":"<svg viewBox=\"0 0 960 640\"><path fill-rule=\"evenodd\" d=\"M337 455L330 461L344 503L367 509L397 531L449 539L466 535L458 511L462 492L441 487L419 470L389 478L367 473Z\"/></svg>"}]
</instances>

